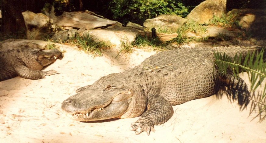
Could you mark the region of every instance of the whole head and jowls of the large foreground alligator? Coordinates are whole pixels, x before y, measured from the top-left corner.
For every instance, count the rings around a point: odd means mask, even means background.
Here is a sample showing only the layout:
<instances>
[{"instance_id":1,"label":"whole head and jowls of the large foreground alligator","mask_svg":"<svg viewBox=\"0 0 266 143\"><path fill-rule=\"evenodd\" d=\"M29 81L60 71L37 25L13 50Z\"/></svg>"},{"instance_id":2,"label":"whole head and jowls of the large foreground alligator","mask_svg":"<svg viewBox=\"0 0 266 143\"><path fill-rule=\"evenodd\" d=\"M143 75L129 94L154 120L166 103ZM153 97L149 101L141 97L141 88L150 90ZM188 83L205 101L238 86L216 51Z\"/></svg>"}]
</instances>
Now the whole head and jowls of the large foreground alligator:
<instances>
[{"instance_id":1,"label":"whole head and jowls of the large foreground alligator","mask_svg":"<svg viewBox=\"0 0 266 143\"><path fill-rule=\"evenodd\" d=\"M146 108L143 93L125 86L116 74L102 77L62 103L62 109L74 120L95 121L141 115ZM140 104L136 104L140 101Z\"/></svg>"}]
</instances>

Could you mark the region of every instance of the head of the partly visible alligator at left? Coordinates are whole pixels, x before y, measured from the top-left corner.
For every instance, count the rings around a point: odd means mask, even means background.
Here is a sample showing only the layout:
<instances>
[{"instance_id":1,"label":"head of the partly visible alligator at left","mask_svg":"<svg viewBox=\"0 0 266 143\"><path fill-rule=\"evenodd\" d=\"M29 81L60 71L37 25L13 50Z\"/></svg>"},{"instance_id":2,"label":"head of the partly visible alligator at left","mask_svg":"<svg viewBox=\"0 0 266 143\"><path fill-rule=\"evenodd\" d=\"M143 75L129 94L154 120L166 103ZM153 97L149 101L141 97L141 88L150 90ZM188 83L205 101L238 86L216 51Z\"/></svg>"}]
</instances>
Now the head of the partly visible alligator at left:
<instances>
[{"instance_id":1,"label":"head of the partly visible alligator at left","mask_svg":"<svg viewBox=\"0 0 266 143\"><path fill-rule=\"evenodd\" d=\"M35 59L42 65L47 66L50 63L56 61L56 59L62 59L63 54L58 49L51 50L37 50L34 53Z\"/></svg>"}]
</instances>

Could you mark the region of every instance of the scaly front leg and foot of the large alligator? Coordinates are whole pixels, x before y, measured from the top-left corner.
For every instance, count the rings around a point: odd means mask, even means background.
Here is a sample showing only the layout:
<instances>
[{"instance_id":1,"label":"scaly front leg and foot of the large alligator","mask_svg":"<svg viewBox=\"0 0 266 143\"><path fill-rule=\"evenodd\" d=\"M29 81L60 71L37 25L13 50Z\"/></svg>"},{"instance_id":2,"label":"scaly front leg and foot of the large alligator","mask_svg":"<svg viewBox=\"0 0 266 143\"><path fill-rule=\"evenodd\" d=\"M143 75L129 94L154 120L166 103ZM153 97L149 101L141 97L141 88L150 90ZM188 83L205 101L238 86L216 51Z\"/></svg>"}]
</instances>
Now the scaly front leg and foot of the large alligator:
<instances>
[{"instance_id":1,"label":"scaly front leg and foot of the large alligator","mask_svg":"<svg viewBox=\"0 0 266 143\"><path fill-rule=\"evenodd\" d=\"M135 134L146 131L149 135L150 131L155 132L154 125L161 125L171 117L172 106L162 96L150 96L147 107L148 110L129 128L129 130L136 131Z\"/></svg>"}]
</instances>

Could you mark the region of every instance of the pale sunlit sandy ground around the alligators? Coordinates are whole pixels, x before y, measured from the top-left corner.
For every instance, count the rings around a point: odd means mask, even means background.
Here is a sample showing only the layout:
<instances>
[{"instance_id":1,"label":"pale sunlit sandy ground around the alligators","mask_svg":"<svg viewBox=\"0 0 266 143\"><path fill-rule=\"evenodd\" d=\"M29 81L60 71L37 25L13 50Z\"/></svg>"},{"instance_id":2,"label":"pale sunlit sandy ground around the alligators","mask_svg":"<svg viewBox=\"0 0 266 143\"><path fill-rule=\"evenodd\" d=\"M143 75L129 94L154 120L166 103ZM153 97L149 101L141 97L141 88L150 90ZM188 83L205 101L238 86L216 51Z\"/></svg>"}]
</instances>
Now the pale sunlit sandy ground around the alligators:
<instances>
[{"instance_id":1,"label":"pale sunlit sandy ground around the alligators","mask_svg":"<svg viewBox=\"0 0 266 143\"><path fill-rule=\"evenodd\" d=\"M21 77L0 82L1 143L118 143L118 142L265 142L266 122L259 122L259 105L250 103L239 111L237 102L220 91L218 95L173 107L173 116L155 133L135 135L130 124L139 117L83 123L61 110L63 100L75 90L100 77L133 68L155 52L135 50L127 58L114 59L115 53L93 58L69 46L62 60L48 66L60 74L41 80ZM246 75L242 76L248 81ZM255 96L257 97L257 92Z\"/></svg>"}]
</instances>

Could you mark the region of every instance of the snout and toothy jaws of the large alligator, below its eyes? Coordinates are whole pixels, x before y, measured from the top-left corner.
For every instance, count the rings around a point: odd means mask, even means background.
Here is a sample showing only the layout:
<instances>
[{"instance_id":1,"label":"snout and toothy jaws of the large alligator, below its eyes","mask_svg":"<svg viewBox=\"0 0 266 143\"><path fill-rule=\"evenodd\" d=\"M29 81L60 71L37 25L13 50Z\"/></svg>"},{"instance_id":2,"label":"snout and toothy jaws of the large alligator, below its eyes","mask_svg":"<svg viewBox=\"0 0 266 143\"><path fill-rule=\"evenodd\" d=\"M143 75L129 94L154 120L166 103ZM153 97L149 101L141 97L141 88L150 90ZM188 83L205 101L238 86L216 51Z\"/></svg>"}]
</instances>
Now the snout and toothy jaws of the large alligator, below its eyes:
<instances>
[{"instance_id":1,"label":"snout and toothy jaws of the large alligator, below its eyes","mask_svg":"<svg viewBox=\"0 0 266 143\"><path fill-rule=\"evenodd\" d=\"M94 95L89 90L78 93L62 103L62 109L73 120L96 121L120 118L129 108L131 92L119 91L117 94Z\"/></svg>"}]
</instances>

